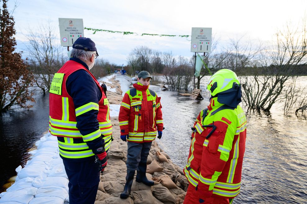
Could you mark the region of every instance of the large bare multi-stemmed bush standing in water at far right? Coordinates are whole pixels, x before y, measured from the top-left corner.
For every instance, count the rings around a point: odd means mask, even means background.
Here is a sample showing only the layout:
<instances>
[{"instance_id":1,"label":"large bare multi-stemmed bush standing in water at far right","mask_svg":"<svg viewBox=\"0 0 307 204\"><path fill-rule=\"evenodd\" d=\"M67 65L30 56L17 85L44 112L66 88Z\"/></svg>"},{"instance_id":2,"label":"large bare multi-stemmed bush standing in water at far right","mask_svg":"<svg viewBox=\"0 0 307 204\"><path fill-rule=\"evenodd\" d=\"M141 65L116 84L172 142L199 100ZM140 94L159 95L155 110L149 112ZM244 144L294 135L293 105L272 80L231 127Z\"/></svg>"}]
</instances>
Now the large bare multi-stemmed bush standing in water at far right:
<instances>
[{"instance_id":1,"label":"large bare multi-stemmed bush standing in water at far right","mask_svg":"<svg viewBox=\"0 0 307 204\"><path fill-rule=\"evenodd\" d=\"M301 28L292 29L289 25L276 34L277 42L262 57L264 63L270 66L255 67L251 77L243 80L245 94L244 102L252 109L269 111L274 103L289 96L289 80L295 79L297 72L294 69L301 64L306 65L307 39L306 18ZM264 55L263 55L264 56ZM292 85L295 85L292 83ZM293 88L292 88L293 89Z\"/></svg>"}]
</instances>

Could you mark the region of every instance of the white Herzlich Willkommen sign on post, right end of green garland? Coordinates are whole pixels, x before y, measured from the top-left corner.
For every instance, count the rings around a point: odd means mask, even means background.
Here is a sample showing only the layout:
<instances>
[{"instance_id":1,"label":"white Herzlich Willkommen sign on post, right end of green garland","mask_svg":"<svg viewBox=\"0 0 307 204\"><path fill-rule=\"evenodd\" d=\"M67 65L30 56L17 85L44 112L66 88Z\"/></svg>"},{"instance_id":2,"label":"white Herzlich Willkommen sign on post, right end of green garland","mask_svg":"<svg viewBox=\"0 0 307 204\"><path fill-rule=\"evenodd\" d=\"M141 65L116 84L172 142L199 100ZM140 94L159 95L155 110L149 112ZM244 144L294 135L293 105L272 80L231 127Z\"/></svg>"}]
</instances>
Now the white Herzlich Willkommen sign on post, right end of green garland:
<instances>
[{"instance_id":1,"label":"white Herzlich Willkommen sign on post, right end of green garland","mask_svg":"<svg viewBox=\"0 0 307 204\"><path fill-rule=\"evenodd\" d=\"M192 28L191 52L211 52L212 28Z\"/></svg>"}]
</instances>

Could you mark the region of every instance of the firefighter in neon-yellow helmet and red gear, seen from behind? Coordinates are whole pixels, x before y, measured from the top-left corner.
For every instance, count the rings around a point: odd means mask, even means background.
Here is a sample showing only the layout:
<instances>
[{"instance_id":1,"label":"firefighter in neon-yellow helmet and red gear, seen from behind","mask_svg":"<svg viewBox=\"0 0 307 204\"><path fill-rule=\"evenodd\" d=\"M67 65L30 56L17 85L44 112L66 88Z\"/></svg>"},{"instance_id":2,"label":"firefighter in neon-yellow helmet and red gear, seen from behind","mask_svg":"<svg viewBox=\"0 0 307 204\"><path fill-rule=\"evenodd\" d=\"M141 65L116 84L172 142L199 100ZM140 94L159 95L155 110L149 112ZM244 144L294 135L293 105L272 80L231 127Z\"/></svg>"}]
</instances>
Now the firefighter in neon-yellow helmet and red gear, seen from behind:
<instances>
[{"instance_id":1,"label":"firefighter in neon-yellow helmet and red gear, seen from behind","mask_svg":"<svg viewBox=\"0 0 307 204\"><path fill-rule=\"evenodd\" d=\"M208 81L210 104L194 123L188 162L189 181L184 204L229 204L240 192L245 152L246 117L241 84L234 73L222 69Z\"/></svg>"}]
</instances>

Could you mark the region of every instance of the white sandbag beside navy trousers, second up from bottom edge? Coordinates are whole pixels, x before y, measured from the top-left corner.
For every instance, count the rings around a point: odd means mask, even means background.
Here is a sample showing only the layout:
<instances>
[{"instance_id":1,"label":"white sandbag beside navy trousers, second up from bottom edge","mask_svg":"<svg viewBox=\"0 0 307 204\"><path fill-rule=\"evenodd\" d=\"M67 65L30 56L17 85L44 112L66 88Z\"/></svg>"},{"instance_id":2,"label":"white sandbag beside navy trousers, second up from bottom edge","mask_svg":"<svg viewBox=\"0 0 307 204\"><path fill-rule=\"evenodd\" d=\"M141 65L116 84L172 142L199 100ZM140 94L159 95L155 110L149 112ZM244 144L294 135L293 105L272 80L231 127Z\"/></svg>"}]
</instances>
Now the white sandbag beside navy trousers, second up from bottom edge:
<instances>
[{"instance_id":1,"label":"white sandbag beside navy trousers, second up from bottom edge","mask_svg":"<svg viewBox=\"0 0 307 204\"><path fill-rule=\"evenodd\" d=\"M35 197L54 196L62 198L63 200L68 196L68 192L65 188L57 186L43 186L37 189Z\"/></svg>"}]
</instances>

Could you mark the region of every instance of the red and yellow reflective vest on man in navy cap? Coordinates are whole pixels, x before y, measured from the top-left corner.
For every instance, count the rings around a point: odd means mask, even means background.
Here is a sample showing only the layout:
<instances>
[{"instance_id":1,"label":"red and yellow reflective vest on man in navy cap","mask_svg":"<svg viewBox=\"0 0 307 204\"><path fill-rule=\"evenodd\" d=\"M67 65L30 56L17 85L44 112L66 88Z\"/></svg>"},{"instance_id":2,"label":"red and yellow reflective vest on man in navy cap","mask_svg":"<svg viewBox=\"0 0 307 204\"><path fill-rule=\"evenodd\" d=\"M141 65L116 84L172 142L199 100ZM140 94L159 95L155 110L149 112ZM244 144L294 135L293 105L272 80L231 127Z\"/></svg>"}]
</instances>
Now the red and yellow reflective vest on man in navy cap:
<instances>
[{"instance_id":1,"label":"red and yellow reflective vest on man in navy cap","mask_svg":"<svg viewBox=\"0 0 307 204\"><path fill-rule=\"evenodd\" d=\"M73 98L67 93L66 79L71 73L80 69L87 71L97 84L102 94L98 104L87 102L76 108ZM89 70L76 61L67 61L54 75L49 92L49 132L58 137L60 156L62 158L80 159L94 156L87 142L93 141L101 135L103 135L105 141L105 150L109 149L112 141L112 124L109 116L108 99L99 82ZM82 135L77 128L76 117L92 110L98 111L99 128L97 126L97 129L92 130L89 134ZM61 137L64 139L61 139Z\"/></svg>"}]
</instances>

